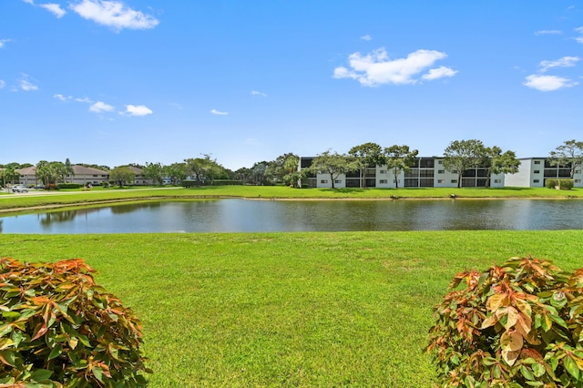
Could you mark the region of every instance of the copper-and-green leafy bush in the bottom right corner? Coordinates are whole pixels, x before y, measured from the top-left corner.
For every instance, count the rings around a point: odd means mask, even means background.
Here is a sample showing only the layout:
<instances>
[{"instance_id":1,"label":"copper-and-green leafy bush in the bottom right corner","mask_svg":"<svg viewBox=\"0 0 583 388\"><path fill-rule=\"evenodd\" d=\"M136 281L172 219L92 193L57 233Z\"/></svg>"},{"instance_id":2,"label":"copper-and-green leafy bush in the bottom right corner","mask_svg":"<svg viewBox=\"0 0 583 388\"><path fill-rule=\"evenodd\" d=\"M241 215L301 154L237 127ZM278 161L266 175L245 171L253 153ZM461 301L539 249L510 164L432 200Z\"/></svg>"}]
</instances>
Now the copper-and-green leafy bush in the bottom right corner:
<instances>
[{"instance_id":1,"label":"copper-and-green leafy bush in the bottom right corner","mask_svg":"<svg viewBox=\"0 0 583 388\"><path fill-rule=\"evenodd\" d=\"M583 387L583 269L512 258L449 288L427 347L441 386Z\"/></svg>"}]
</instances>

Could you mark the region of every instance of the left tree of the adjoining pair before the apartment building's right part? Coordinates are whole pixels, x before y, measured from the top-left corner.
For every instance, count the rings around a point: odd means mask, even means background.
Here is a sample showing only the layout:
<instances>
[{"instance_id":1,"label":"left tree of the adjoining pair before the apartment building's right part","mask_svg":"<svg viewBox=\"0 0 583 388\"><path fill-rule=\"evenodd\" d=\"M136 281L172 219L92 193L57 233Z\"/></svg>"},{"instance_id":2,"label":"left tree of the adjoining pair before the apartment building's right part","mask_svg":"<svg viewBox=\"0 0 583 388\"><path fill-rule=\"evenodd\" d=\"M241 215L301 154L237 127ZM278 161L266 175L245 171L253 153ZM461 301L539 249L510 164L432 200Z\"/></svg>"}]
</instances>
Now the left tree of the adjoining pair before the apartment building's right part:
<instances>
[{"instance_id":1,"label":"left tree of the adjoining pair before the apartment building's right part","mask_svg":"<svg viewBox=\"0 0 583 388\"><path fill-rule=\"evenodd\" d=\"M468 168L476 168L484 161L486 148L480 140L455 140L444 152L444 168L457 173L457 187L462 185L462 175Z\"/></svg>"}]
</instances>

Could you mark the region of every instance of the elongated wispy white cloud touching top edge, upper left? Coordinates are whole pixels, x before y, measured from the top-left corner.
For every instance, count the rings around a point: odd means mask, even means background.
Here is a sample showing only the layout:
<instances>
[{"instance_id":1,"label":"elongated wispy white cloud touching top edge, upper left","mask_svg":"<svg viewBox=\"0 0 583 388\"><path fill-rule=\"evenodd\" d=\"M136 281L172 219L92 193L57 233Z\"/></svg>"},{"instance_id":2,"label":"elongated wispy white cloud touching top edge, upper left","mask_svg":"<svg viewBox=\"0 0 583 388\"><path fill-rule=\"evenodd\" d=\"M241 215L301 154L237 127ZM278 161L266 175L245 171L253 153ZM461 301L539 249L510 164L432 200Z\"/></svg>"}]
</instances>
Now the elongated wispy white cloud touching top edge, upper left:
<instances>
[{"instance_id":1,"label":"elongated wispy white cloud touching top edge, upper left","mask_svg":"<svg viewBox=\"0 0 583 388\"><path fill-rule=\"evenodd\" d=\"M159 24L154 16L142 14L118 1L82 0L80 3L71 5L71 9L87 20L93 20L97 24L117 30L147 29Z\"/></svg>"}]
</instances>

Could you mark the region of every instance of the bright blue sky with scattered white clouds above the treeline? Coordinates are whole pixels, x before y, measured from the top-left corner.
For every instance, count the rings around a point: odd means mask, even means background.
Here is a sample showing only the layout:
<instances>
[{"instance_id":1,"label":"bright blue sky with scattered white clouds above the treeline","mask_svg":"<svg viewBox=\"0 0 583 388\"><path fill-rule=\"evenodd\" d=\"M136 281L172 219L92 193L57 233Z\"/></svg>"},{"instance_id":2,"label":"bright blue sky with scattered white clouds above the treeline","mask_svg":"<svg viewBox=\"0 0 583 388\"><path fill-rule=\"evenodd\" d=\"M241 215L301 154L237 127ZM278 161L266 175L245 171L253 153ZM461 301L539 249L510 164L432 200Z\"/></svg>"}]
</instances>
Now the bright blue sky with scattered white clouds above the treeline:
<instances>
[{"instance_id":1,"label":"bright blue sky with scattered white clouds above the treeline","mask_svg":"<svg viewBox=\"0 0 583 388\"><path fill-rule=\"evenodd\" d=\"M583 3L1 0L0 164L583 140Z\"/></svg>"}]
</instances>

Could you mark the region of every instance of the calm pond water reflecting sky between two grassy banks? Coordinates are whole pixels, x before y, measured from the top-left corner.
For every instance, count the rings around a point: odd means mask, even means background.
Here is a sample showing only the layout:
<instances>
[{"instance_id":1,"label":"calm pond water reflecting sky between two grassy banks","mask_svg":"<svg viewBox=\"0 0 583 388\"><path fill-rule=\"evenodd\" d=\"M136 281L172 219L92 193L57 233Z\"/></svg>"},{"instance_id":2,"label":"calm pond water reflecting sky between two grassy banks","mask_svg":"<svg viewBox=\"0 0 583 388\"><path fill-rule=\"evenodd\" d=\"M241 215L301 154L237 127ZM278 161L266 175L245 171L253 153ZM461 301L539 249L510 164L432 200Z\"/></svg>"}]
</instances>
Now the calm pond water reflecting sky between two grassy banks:
<instances>
[{"instance_id":1,"label":"calm pond water reflecting sky between two grassy banks","mask_svg":"<svg viewBox=\"0 0 583 388\"><path fill-rule=\"evenodd\" d=\"M0 218L2 233L583 229L583 200L194 200Z\"/></svg>"}]
</instances>

